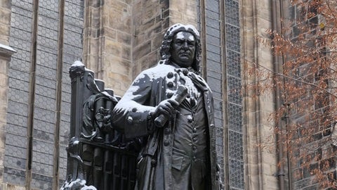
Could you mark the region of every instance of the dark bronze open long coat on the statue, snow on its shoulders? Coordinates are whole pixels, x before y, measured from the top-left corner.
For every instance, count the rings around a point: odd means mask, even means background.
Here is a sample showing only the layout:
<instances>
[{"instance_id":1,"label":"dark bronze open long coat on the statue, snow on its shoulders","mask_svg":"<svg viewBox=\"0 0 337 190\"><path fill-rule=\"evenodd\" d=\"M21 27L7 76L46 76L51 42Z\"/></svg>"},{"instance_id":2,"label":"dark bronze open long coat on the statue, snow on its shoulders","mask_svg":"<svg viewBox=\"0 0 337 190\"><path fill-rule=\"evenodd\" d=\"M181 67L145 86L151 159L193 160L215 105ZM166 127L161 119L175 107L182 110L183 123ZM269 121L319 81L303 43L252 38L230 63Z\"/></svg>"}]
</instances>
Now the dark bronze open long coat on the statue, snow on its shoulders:
<instances>
[{"instance_id":1,"label":"dark bronze open long coat on the statue, snow on its shoulders","mask_svg":"<svg viewBox=\"0 0 337 190\"><path fill-rule=\"evenodd\" d=\"M218 189L218 169L216 163L216 139L213 113L213 96L204 80L186 69L173 65L158 64L144 70L136 77L126 94L113 110L112 124L124 132L128 138L143 137L145 145L138 158L136 189L139 190L174 190L171 187L173 134L176 128L173 116L163 128L154 127L152 112L161 101L169 99L178 84L180 77L189 75L203 93L204 108L208 118L209 159L211 186Z\"/></svg>"}]
</instances>

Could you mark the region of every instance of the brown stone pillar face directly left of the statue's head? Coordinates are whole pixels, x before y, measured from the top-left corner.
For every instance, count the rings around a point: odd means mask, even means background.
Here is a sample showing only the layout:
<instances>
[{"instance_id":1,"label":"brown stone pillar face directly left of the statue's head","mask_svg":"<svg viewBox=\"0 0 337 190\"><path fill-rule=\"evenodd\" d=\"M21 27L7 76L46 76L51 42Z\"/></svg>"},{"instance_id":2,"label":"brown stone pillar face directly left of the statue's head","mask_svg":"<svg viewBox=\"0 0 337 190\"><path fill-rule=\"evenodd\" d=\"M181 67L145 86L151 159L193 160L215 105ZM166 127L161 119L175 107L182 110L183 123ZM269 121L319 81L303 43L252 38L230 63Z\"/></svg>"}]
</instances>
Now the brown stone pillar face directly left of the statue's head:
<instances>
[{"instance_id":1,"label":"brown stone pillar face directly left of the statue's head","mask_svg":"<svg viewBox=\"0 0 337 190\"><path fill-rule=\"evenodd\" d=\"M134 78L159 61L159 47L169 27L169 1L136 0L133 13Z\"/></svg>"}]
</instances>

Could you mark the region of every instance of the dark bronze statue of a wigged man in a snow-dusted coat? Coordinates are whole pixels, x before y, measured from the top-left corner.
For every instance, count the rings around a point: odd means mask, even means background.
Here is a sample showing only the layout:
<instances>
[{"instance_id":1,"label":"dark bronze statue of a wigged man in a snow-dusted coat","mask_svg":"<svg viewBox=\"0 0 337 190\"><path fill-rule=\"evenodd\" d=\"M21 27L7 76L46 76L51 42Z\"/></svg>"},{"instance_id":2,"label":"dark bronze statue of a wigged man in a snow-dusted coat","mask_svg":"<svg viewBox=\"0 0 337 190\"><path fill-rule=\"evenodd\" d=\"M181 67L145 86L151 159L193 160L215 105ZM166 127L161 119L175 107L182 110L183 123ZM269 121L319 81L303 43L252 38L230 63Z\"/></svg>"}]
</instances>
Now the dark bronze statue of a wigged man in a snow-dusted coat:
<instances>
[{"instance_id":1,"label":"dark bronze statue of a wigged man in a snow-dusted coat","mask_svg":"<svg viewBox=\"0 0 337 190\"><path fill-rule=\"evenodd\" d=\"M116 129L143 138L136 189L218 189L213 97L199 76L199 32L173 25L160 53L158 65L136 77L112 113ZM187 96L179 102L172 97L180 86ZM167 121L155 125L159 115Z\"/></svg>"}]
</instances>

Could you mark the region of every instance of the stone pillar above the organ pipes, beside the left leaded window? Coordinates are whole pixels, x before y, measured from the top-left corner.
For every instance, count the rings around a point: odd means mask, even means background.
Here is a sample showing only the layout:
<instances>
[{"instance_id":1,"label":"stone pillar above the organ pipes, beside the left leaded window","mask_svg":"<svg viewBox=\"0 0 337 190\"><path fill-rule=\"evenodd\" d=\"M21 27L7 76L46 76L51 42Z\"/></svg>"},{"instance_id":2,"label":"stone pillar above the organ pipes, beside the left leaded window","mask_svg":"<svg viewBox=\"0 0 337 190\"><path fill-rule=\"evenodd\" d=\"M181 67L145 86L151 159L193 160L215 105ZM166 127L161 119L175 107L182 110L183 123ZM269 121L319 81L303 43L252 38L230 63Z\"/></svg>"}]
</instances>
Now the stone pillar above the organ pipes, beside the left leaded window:
<instances>
[{"instance_id":1,"label":"stone pillar above the organ pipes, beside the left leaded window","mask_svg":"<svg viewBox=\"0 0 337 190\"><path fill-rule=\"evenodd\" d=\"M117 94L131 84L133 1L86 1L84 64Z\"/></svg>"}]
</instances>

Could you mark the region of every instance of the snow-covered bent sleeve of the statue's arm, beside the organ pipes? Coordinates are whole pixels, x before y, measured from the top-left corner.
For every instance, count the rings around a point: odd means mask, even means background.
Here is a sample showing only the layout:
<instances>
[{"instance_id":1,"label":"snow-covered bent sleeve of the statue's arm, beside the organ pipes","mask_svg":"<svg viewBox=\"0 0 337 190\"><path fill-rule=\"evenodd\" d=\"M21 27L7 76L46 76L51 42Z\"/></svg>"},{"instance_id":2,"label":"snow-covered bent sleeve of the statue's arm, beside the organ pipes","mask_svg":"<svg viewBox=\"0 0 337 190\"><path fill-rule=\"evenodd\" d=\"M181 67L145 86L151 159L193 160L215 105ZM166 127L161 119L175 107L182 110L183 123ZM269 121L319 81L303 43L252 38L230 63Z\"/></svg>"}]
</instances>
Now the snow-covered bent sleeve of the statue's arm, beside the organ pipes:
<instances>
[{"instance_id":1,"label":"snow-covered bent sleeve of the statue's arm, beside the organ pipes","mask_svg":"<svg viewBox=\"0 0 337 190\"><path fill-rule=\"evenodd\" d=\"M126 138L142 137L152 131L150 121L155 107L148 106L152 80L147 73L140 73L112 110L112 126Z\"/></svg>"}]
</instances>

